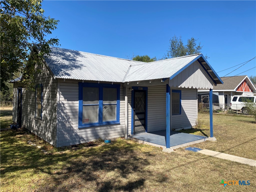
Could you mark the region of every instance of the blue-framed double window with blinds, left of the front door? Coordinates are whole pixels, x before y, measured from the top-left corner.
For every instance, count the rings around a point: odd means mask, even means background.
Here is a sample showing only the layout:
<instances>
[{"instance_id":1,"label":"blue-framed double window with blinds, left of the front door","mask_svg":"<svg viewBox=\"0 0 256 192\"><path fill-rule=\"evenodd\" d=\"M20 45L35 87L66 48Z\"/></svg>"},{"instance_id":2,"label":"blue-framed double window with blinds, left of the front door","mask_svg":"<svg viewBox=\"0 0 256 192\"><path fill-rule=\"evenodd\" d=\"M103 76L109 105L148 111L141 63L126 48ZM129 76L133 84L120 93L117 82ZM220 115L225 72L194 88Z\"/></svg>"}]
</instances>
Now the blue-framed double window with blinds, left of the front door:
<instances>
[{"instance_id":1,"label":"blue-framed double window with blinds, left of the front door","mask_svg":"<svg viewBox=\"0 0 256 192\"><path fill-rule=\"evenodd\" d=\"M78 126L116 124L120 121L120 85L79 83Z\"/></svg>"}]
</instances>

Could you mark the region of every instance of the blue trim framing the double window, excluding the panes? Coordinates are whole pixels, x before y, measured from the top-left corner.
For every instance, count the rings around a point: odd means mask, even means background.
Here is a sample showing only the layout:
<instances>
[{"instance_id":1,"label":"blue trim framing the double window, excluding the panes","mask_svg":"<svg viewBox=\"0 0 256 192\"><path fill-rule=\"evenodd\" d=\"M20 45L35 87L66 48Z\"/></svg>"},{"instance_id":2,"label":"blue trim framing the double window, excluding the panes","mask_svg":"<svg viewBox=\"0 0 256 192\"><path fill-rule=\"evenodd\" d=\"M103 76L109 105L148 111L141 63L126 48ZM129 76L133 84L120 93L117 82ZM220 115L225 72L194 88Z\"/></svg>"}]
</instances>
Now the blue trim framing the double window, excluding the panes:
<instances>
[{"instance_id":1,"label":"blue trim framing the double window, excluding the panes","mask_svg":"<svg viewBox=\"0 0 256 192\"><path fill-rule=\"evenodd\" d=\"M101 125L113 125L120 124L120 84L105 84L105 83L78 83L79 86L79 107L78 107L78 128L101 126ZM99 116L98 122L95 123L82 123L83 118L83 87L96 87L99 88ZM103 88L116 88L116 120L115 121L103 121ZM111 105L111 104L110 104Z\"/></svg>"}]
</instances>

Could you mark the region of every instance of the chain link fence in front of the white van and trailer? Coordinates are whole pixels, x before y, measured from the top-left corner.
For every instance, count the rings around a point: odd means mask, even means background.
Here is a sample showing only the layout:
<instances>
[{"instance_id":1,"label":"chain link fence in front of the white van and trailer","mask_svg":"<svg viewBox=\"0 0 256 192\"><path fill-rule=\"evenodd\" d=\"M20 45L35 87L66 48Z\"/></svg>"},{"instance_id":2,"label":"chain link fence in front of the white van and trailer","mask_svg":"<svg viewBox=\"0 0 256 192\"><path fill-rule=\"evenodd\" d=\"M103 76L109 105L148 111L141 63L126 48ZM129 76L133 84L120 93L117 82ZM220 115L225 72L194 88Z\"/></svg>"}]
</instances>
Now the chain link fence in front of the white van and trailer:
<instances>
[{"instance_id":1,"label":"chain link fence in front of the white van and trailer","mask_svg":"<svg viewBox=\"0 0 256 192\"><path fill-rule=\"evenodd\" d=\"M249 111L246 109L244 104L212 104L213 111L215 113L228 113L237 115L249 115ZM199 113L209 113L209 103L198 103Z\"/></svg>"}]
</instances>

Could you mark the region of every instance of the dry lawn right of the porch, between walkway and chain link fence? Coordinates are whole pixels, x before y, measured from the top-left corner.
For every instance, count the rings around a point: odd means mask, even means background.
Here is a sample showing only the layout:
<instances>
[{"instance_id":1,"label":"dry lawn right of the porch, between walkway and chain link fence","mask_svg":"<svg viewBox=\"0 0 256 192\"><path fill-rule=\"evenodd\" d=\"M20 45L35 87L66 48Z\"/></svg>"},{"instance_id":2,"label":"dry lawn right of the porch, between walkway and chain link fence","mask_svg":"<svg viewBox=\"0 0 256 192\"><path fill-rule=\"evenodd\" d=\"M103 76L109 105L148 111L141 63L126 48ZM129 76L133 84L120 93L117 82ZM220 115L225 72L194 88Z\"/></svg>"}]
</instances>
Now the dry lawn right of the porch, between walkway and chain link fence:
<instances>
[{"instance_id":1,"label":"dry lawn right of the porch, between walkway and chain link fence","mask_svg":"<svg viewBox=\"0 0 256 192\"><path fill-rule=\"evenodd\" d=\"M198 121L199 129L181 132L210 136L209 114L198 113ZM214 114L213 131L216 142L202 142L193 146L256 160L256 123L253 118Z\"/></svg>"}]
</instances>

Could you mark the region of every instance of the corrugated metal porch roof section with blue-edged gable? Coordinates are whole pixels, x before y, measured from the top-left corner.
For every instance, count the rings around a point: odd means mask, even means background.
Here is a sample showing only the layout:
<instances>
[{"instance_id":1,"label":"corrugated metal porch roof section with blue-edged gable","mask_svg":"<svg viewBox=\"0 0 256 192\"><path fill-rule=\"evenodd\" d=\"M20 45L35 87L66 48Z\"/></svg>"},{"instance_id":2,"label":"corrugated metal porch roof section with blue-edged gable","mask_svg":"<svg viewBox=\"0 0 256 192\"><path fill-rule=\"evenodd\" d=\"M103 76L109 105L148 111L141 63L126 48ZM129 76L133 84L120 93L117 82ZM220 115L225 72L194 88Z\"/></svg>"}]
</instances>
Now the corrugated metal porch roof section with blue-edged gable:
<instances>
[{"instance_id":1,"label":"corrugated metal porch roof section with blue-edged gable","mask_svg":"<svg viewBox=\"0 0 256 192\"><path fill-rule=\"evenodd\" d=\"M131 66L123 82L162 78L172 79L196 60L198 60L200 64L204 66L206 71L208 70L207 72L209 73L209 76L216 84L222 83L217 73L211 68L202 54L176 57Z\"/></svg>"}]
</instances>

